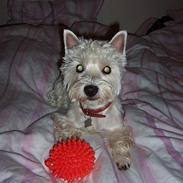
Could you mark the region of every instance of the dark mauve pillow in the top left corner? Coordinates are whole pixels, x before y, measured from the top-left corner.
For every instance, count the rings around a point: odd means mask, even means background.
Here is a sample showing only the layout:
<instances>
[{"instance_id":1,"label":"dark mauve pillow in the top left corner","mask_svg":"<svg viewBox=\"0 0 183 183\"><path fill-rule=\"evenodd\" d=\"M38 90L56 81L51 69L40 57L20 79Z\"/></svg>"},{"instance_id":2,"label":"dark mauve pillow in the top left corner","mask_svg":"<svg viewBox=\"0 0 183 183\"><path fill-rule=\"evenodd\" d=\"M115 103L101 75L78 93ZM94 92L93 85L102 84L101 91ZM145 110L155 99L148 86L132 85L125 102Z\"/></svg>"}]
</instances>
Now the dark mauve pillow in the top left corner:
<instances>
[{"instance_id":1,"label":"dark mauve pillow in the top left corner","mask_svg":"<svg viewBox=\"0 0 183 183\"><path fill-rule=\"evenodd\" d=\"M9 0L10 23L53 24L53 0Z\"/></svg>"}]
</instances>

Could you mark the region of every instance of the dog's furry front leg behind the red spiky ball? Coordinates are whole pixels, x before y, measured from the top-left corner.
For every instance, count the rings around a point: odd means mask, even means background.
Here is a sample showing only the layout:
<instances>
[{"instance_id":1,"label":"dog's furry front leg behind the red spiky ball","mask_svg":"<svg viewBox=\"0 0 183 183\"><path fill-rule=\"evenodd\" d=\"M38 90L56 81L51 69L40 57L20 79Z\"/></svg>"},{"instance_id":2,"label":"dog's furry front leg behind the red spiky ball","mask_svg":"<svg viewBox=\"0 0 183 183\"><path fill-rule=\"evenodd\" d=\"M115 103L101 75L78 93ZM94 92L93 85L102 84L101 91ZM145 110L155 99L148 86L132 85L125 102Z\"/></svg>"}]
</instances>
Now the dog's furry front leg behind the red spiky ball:
<instances>
[{"instance_id":1,"label":"dog's furry front leg behind the red spiky ball","mask_svg":"<svg viewBox=\"0 0 183 183\"><path fill-rule=\"evenodd\" d=\"M68 120L67 117L59 113L54 113L51 118L54 123L54 133L57 141L81 136L82 131L80 129L76 129L73 122Z\"/></svg>"}]
</instances>

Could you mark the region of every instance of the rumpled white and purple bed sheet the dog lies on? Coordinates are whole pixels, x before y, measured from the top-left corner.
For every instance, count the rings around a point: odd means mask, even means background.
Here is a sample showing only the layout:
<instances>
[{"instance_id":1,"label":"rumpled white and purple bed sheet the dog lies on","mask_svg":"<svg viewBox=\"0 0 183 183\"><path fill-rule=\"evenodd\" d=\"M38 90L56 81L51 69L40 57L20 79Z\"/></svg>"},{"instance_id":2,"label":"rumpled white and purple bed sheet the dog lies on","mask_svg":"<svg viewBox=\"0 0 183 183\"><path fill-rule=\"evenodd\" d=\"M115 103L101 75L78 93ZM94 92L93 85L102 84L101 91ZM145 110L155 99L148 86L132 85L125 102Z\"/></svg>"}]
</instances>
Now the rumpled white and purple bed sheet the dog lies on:
<instances>
[{"instance_id":1,"label":"rumpled white and purple bed sheet the dog lies on","mask_svg":"<svg viewBox=\"0 0 183 183\"><path fill-rule=\"evenodd\" d=\"M181 183L183 180L183 24L129 36L121 92L133 128L132 167L118 171L99 136L86 183ZM0 28L0 182L56 183L44 165L54 144L47 92L58 76L56 26Z\"/></svg>"}]
</instances>

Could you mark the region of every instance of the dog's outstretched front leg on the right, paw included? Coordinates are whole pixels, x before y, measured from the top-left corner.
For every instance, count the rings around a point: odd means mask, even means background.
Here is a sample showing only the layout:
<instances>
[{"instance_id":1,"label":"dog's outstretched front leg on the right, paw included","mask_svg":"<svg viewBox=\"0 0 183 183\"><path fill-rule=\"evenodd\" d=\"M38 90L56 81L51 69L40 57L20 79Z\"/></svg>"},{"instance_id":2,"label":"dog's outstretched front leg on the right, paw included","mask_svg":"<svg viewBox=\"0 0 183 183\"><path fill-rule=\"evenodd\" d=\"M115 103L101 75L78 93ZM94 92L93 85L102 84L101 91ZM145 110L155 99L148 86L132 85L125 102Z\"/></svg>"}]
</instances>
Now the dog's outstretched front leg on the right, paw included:
<instances>
[{"instance_id":1,"label":"dog's outstretched front leg on the right, paw included","mask_svg":"<svg viewBox=\"0 0 183 183\"><path fill-rule=\"evenodd\" d=\"M112 156L120 170L127 170L131 165L130 149L134 144L129 127L114 130L109 134L109 146Z\"/></svg>"}]
</instances>

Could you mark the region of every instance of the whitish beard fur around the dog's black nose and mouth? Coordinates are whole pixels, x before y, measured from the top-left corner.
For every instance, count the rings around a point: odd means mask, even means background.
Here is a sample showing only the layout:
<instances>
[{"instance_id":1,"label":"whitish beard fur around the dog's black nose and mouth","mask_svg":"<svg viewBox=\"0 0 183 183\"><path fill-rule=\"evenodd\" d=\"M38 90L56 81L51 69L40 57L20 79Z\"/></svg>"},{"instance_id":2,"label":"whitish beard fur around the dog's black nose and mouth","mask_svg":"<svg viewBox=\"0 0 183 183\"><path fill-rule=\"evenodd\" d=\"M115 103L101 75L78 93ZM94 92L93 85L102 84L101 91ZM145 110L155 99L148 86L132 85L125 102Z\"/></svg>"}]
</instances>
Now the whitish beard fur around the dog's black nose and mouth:
<instances>
[{"instance_id":1,"label":"whitish beard fur around the dog's black nose and mouth","mask_svg":"<svg viewBox=\"0 0 183 183\"><path fill-rule=\"evenodd\" d=\"M88 83L77 81L72 86L68 87L69 98L72 102L81 103L84 107L96 108L112 102L115 98L115 91L112 85L106 81L100 81L97 86L98 93L93 97L88 97L84 93L84 87Z\"/></svg>"}]
</instances>

